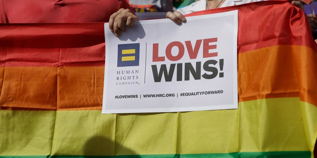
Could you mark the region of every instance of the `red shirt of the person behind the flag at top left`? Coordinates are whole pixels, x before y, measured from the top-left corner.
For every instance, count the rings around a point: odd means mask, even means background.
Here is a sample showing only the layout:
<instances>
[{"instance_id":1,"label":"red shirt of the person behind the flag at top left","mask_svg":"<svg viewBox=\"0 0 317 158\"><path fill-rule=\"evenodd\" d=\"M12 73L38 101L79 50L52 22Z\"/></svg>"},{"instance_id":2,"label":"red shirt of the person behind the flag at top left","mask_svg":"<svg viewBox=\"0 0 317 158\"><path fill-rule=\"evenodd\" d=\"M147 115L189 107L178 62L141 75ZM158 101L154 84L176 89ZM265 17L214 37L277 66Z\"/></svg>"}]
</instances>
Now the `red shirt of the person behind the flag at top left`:
<instances>
[{"instance_id":1,"label":"red shirt of the person behind the flag at top left","mask_svg":"<svg viewBox=\"0 0 317 158\"><path fill-rule=\"evenodd\" d=\"M125 0L0 0L0 23L108 22Z\"/></svg>"}]
</instances>

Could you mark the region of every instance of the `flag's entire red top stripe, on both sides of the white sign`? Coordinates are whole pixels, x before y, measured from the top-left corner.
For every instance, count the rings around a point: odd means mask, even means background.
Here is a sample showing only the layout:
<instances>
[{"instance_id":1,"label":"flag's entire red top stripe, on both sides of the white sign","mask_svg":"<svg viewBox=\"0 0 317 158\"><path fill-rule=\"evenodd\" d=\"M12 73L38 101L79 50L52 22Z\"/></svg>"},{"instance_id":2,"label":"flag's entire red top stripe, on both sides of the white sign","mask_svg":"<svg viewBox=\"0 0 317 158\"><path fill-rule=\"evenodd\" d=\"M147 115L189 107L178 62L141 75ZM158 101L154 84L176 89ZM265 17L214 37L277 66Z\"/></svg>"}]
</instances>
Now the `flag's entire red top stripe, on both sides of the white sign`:
<instances>
[{"instance_id":1,"label":"flag's entire red top stripe, on both sides of the white sign","mask_svg":"<svg viewBox=\"0 0 317 158\"><path fill-rule=\"evenodd\" d=\"M304 12L284 0L211 9L188 16L236 9L239 53L284 44L317 50ZM104 66L104 23L0 24L0 59L1 67Z\"/></svg>"}]
</instances>

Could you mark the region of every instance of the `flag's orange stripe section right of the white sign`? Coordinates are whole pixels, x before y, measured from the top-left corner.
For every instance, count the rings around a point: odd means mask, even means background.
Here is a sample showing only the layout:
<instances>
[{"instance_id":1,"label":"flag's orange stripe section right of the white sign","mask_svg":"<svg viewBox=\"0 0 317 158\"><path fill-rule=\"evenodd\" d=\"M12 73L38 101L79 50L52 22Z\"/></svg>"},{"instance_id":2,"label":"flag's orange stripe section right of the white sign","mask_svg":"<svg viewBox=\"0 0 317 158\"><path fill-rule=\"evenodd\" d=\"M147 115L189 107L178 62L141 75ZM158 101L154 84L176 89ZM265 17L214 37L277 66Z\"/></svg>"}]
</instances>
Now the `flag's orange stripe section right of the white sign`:
<instances>
[{"instance_id":1,"label":"flag's orange stripe section right of the white sign","mask_svg":"<svg viewBox=\"0 0 317 158\"><path fill-rule=\"evenodd\" d=\"M307 61L307 62L306 62ZM277 45L238 55L239 101L301 97L317 105L317 56L306 46Z\"/></svg>"}]
</instances>

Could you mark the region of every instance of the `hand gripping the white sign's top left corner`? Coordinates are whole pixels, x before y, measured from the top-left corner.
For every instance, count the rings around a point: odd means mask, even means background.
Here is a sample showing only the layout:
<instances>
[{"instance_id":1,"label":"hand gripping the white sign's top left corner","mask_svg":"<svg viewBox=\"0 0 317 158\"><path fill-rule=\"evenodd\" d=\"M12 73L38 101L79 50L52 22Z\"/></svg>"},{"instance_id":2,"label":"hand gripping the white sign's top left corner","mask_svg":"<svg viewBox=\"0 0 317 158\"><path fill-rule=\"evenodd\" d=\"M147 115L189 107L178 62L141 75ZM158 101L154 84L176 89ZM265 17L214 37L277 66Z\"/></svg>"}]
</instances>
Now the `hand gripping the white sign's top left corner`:
<instances>
[{"instance_id":1,"label":"hand gripping the white sign's top left corner","mask_svg":"<svg viewBox=\"0 0 317 158\"><path fill-rule=\"evenodd\" d=\"M132 27L138 20L139 18L131 10L121 8L110 16L109 29L116 37L119 37L120 32L126 30L125 25Z\"/></svg>"}]
</instances>

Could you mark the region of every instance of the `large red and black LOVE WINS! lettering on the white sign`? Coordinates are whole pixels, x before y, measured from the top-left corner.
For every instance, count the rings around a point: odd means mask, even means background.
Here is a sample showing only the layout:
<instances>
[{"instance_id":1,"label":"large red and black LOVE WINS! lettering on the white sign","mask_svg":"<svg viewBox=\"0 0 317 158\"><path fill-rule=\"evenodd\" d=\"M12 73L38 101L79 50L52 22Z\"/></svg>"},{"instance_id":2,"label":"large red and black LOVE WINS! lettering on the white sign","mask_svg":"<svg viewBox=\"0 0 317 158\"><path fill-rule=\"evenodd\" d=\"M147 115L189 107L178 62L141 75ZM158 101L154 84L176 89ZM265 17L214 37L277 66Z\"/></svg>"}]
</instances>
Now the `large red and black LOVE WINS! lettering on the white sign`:
<instances>
[{"instance_id":1,"label":"large red and black LOVE WINS! lettering on the white sign","mask_svg":"<svg viewBox=\"0 0 317 158\"><path fill-rule=\"evenodd\" d=\"M196 40L195 46L193 48L191 41L185 41L185 46L188 52L188 56L190 59L197 59L199 49L203 43L203 58L210 58L218 56L218 52L210 52L211 49L216 49L217 45L214 44L217 42L217 38L204 39L204 40ZM178 61L183 58L185 54L185 46L180 41L170 42L165 49L165 56L159 56L159 43L153 44L153 62L161 62L165 61L165 57L170 61ZM178 52L172 53L172 48L177 47ZM223 70L223 59L216 60L208 60L205 63L196 62L196 66L194 67L192 63L173 63L170 64L169 70L167 70L166 64L161 64L160 69L158 70L157 65L152 65L152 72L155 82L160 82L162 77L164 76L165 81L172 81L174 74L176 74L176 80L182 81L183 74L184 80L190 80L190 75L192 75L193 79L213 79L218 75L218 68L214 67L217 63L219 63L220 71ZM202 74L202 67L205 70L205 73ZM176 73L175 72L176 69ZM184 70L184 71L183 71ZM184 72L184 73L183 73ZM209 72L209 73L207 73ZM219 78L223 78L223 72L219 73Z\"/></svg>"}]
</instances>

